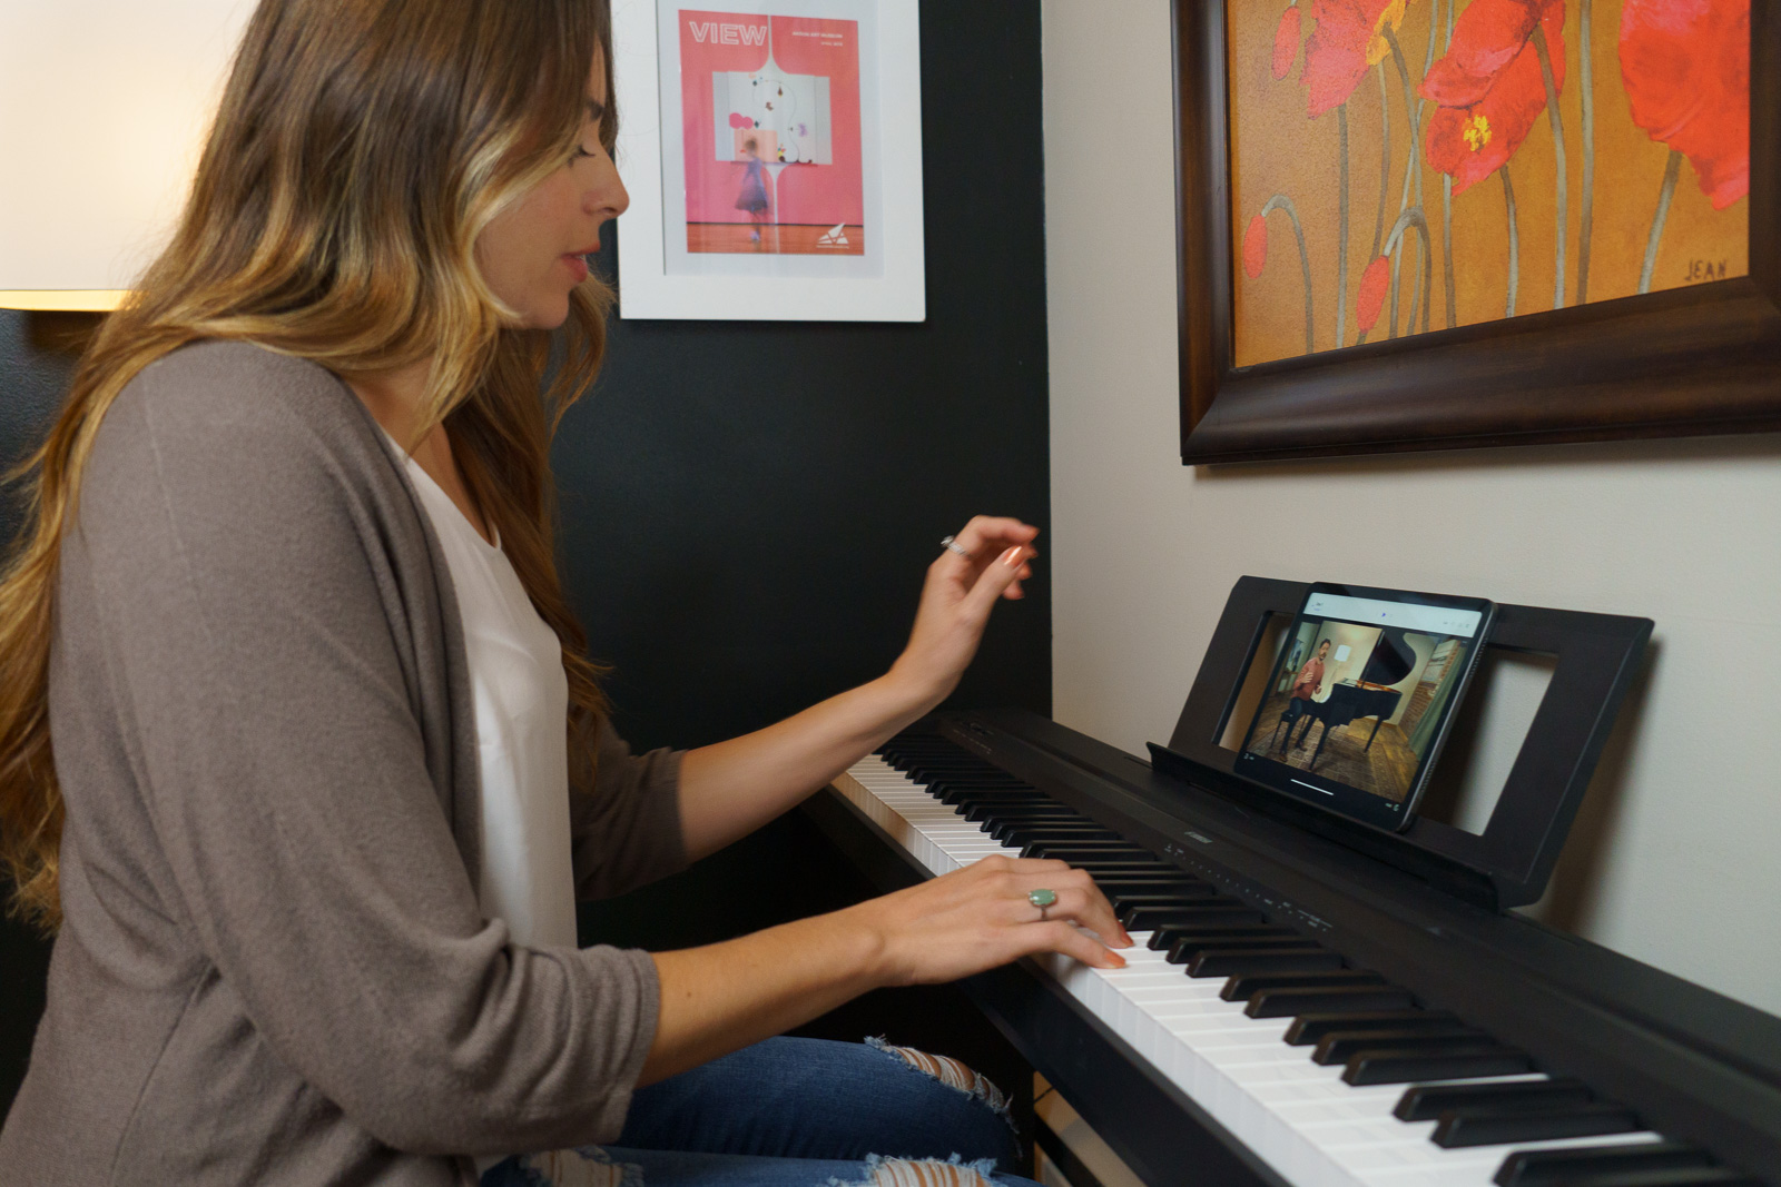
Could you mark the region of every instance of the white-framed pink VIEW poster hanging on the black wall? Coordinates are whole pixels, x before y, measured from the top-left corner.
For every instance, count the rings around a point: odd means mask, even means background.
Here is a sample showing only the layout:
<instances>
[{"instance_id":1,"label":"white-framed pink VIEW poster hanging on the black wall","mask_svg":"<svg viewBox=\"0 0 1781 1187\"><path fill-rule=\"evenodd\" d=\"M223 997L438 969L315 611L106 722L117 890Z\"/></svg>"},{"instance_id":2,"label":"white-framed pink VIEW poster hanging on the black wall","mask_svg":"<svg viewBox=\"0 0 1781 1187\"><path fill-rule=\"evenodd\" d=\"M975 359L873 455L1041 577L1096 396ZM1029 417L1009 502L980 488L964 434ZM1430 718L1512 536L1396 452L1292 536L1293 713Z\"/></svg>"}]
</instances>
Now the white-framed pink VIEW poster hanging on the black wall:
<instances>
[{"instance_id":1,"label":"white-framed pink VIEW poster hanging on the black wall","mask_svg":"<svg viewBox=\"0 0 1781 1187\"><path fill-rule=\"evenodd\" d=\"M915 0L614 0L622 317L926 317Z\"/></svg>"}]
</instances>

